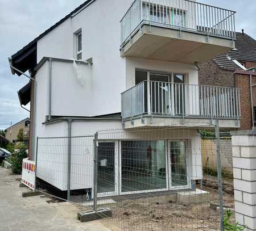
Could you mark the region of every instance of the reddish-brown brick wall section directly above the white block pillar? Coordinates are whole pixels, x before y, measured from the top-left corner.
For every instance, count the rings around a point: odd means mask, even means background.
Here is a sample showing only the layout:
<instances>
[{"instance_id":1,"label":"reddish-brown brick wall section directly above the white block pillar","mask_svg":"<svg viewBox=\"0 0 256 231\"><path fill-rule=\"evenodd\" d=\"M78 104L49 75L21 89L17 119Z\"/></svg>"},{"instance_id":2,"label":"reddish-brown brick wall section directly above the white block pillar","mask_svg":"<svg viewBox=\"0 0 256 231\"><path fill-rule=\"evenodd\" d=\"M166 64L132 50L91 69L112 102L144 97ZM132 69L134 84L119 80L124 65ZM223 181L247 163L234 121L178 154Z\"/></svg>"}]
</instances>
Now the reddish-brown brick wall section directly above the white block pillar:
<instances>
[{"instance_id":1,"label":"reddish-brown brick wall section directly above the white block pillar","mask_svg":"<svg viewBox=\"0 0 256 231\"><path fill-rule=\"evenodd\" d=\"M250 76L245 74L235 74L236 87L240 88L241 105L241 130L251 129L251 95Z\"/></svg>"}]
</instances>

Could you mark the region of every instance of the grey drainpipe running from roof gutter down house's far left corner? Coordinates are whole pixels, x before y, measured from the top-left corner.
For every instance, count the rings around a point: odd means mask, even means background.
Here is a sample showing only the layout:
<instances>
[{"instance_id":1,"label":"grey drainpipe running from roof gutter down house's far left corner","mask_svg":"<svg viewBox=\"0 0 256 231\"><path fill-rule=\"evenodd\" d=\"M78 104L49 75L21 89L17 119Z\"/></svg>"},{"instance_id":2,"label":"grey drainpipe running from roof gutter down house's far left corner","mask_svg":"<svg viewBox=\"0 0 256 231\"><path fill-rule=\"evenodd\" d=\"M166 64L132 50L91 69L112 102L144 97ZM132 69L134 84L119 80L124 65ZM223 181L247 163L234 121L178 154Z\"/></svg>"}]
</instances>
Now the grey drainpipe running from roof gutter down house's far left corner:
<instances>
[{"instance_id":1,"label":"grey drainpipe running from roof gutter down house's far left corner","mask_svg":"<svg viewBox=\"0 0 256 231\"><path fill-rule=\"evenodd\" d=\"M30 75L27 75L26 73L23 73L22 71L20 71L19 69L15 68L13 66L13 61L12 61L12 58L8 58L9 59L9 65L10 65L10 68L11 68L11 73L12 74L15 74L14 70L16 70L16 72L26 76L27 78L29 78L31 81L34 82L34 113L33 113L33 119L34 119L34 125L33 125L33 142L32 142L32 159L34 159L34 154L35 154L35 128L36 128L36 80L32 77L30 77Z\"/></svg>"}]
</instances>

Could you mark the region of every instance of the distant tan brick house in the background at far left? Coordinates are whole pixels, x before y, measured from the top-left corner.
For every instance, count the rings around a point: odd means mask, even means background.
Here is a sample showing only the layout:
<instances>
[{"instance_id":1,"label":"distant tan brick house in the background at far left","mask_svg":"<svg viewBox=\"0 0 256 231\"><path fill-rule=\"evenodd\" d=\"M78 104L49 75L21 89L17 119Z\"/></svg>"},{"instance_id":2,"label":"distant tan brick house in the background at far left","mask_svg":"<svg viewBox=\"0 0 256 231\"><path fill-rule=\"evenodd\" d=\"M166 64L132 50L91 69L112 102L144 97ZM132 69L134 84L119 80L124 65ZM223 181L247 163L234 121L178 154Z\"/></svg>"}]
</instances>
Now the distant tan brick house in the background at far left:
<instances>
[{"instance_id":1,"label":"distant tan brick house in the background at far left","mask_svg":"<svg viewBox=\"0 0 256 231\"><path fill-rule=\"evenodd\" d=\"M13 142L15 144L20 128L23 128L24 142L25 142L25 144L28 144L28 140L30 137L30 118L21 120L18 123L11 125L11 127L6 128L5 137L7 138L7 140L9 140L10 142Z\"/></svg>"}]
</instances>

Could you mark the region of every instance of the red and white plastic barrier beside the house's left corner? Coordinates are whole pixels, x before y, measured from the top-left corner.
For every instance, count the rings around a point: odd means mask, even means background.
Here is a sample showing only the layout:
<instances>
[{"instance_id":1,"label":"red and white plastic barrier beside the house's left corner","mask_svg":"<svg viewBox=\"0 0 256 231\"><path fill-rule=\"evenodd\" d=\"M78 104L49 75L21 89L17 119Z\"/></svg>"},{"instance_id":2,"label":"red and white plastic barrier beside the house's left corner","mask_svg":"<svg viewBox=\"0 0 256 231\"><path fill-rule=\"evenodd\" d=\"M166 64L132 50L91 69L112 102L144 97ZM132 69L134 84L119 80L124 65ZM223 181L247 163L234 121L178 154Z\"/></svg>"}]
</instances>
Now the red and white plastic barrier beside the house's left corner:
<instances>
[{"instance_id":1,"label":"red and white plastic barrier beside the house's left corner","mask_svg":"<svg viewBox=\"0 0 256 231\"><path fill-rule=\"evenodd\" d=\"M23 159L22 163L22 183L32 190L35 189L35 161Z\"/></svg>"}]
</instances>

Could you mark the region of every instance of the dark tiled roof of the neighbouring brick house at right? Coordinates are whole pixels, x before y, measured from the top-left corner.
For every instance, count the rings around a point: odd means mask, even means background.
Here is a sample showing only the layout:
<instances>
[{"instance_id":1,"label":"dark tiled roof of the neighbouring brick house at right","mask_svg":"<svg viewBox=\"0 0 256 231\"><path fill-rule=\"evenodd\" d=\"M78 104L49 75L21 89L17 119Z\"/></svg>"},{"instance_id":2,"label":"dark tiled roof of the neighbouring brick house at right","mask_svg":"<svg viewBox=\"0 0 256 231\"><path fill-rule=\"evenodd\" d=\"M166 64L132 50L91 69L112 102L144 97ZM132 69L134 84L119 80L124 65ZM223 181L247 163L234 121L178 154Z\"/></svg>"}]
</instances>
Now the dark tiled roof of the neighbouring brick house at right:
<instances>
[{"instance_id":1,"label":"dark tiled roof of the neighbouring brick house at right","mask_svg":"<svg viewBox=\"0 0 256 231\"><path fill-rule=\"evenodd\" d=\"M213 58L213 61L224 70L241 70L232 60L256 62L256 40L246 33L236 32L236 49Z\"/></svg>"}]
</instances>

